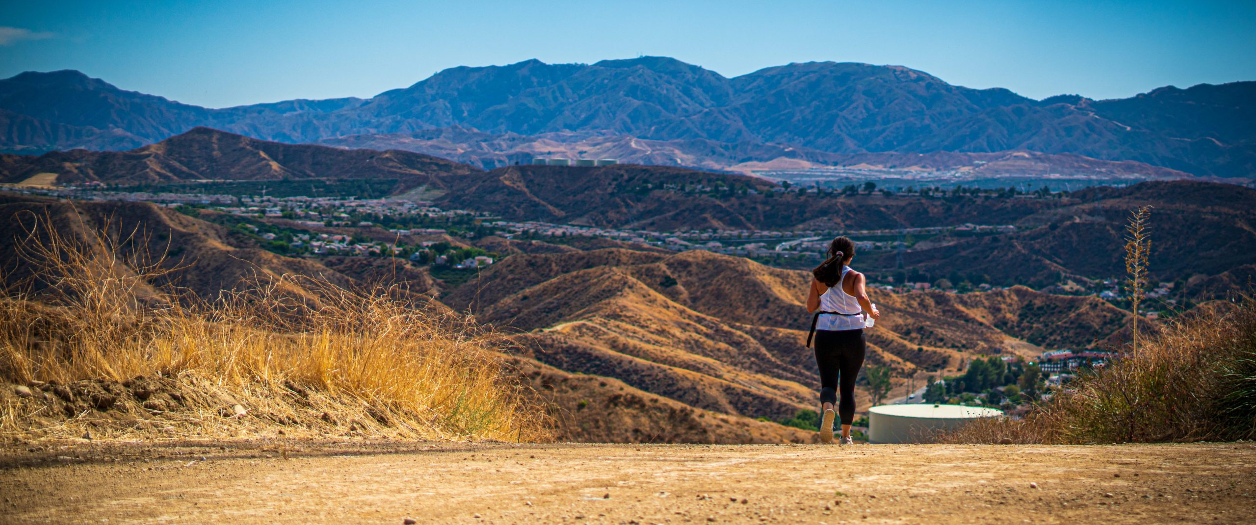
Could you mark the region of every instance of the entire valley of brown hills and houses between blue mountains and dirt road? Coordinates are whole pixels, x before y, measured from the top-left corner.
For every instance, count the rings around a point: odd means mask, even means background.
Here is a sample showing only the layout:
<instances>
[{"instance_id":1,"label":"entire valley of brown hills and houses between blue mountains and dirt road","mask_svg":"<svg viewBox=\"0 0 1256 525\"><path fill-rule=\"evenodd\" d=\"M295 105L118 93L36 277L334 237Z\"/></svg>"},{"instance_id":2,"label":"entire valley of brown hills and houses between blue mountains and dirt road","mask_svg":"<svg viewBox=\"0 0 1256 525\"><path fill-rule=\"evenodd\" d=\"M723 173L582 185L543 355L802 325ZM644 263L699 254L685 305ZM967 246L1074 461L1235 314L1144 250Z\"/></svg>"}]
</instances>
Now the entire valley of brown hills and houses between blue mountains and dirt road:
<instances>
[{"instance_id":1,"label":"entire valley of brown hills and houses between blue mountains and dirt road","mask_svg":"<svg viewBox=\"0 0 1256 525\"><path fill-rule=\"evenodd\" d=\"M1256 268L1256 191L1196 181L836 190L664 166L484 171L206 128L129 152L8 157L0 177L0 235L23 237L33 217L72 236L78 217L142 232L128 264L167 256L152 294L318 276L484 323L571 441L810 442L775 422L813 408L801 301L836 235L855 240L887 314L868 364L896 396L991 357L1124 344L1118 250L1138 205L1156 206L1166 237L1142 313L1223 298ZM10 286L33 283L18 252L3 262ZM296 281L284 294L320 300ZM864 409L873 386L858 388Z\"/></svg>"}]
</instances>

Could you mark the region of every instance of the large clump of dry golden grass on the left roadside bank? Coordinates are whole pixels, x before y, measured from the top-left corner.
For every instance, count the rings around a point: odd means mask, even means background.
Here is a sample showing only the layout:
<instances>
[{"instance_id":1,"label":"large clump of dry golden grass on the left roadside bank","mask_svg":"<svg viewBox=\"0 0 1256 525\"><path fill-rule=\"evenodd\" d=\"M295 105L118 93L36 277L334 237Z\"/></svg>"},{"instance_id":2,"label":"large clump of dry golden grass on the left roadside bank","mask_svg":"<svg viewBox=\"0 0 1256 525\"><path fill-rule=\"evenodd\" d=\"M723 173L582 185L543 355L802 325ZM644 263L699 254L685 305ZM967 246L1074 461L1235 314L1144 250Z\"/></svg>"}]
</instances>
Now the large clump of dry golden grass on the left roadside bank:
<instances>
[{"instance_id":1,"label":"large clump of dry golden grass on the left roadside bank","mask_svg":"<svg viewBox=\"0 0 1256 525\"><path fill-rule=\"evenodd\" d=\"M139 232L31 219L18 245L39 271L0 298L0 379L34 396L3 397L0 433L546 436L502 339L471 319L305 276L202 300L154 288L171 264Z\"/></svg>"}]
</instances>

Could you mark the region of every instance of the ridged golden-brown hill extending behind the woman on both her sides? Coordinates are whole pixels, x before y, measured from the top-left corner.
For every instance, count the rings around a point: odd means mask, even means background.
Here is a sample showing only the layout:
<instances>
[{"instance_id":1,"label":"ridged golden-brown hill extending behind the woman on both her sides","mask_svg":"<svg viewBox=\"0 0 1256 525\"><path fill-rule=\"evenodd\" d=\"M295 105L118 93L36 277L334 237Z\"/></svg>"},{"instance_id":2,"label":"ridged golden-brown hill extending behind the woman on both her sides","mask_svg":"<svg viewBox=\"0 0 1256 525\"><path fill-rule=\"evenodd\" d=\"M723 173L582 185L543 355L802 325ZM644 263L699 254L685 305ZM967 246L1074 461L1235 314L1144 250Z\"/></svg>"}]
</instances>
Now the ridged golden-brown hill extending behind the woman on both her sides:
<instances>
[{"instance_id":1,"label":"ridged golden-brown hill extending behind the woman on both her sides","mask_svg":"<svg viewBox=\"0 0 1256 525\"><path fill-rule=\"evenodd\" d=\"M543 363L693 407L782 417L810 407L818 387L803 347L809 279L706 251L595 250L515 255L442 300L524 332L528 355ZM885 317L868 333L869 362L901 376L953 372L976 355L1102 344L1127 319L1094 298L1024 288L877 291L874 301Z\"/></svg>"}]
</instances>

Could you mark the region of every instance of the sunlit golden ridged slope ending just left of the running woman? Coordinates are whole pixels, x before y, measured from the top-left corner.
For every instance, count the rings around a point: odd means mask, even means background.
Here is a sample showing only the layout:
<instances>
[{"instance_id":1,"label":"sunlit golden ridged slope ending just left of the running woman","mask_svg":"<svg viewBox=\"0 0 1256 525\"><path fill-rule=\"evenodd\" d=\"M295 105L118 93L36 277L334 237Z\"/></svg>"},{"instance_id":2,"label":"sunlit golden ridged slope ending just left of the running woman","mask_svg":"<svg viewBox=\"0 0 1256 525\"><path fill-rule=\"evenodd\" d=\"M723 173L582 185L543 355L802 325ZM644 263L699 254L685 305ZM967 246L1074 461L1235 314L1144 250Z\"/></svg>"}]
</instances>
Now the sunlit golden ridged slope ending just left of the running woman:
<instances>
[{"instance_id":1,"label":"sunlit golden ridged slope ending just left of the running woman","mask_svg":"<svg viewBox=\"0 0 1256 525\"><path fill-rule=\"evenodd\" d=\"M512 257L514 259L514 257ZM754 338L693 311L617 268L561 274L479 310L534 332L538 360L623 379L686 404L745 416L791 413L810 396Z\"/></svg>"}]
</instances>

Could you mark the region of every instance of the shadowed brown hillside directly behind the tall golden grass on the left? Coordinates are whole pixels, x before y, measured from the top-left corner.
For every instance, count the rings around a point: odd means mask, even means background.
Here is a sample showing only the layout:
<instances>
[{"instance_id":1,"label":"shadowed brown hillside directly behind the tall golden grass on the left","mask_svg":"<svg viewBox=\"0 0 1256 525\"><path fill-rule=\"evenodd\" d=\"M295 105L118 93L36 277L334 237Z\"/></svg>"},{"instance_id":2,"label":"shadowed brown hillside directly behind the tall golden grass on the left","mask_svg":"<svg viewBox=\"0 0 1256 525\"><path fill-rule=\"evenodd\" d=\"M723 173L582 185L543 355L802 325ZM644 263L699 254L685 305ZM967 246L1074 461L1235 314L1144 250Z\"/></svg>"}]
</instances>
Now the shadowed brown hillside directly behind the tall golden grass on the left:
<instances>
[{"instance_id":1,"label":"shadowed brown hillside directly behind the tall golden grass on the left","mask_svg":"<svg viewBox=\"0 0 1256 525\"><path fill-rule=\"evenodd\" d=\"M0 246L4 246L0 249L0 264L4 265L4 283L9 286L41 286L41 281L34 279L30 254L19 245L28 231L39 231L48 221L68 239L85 239L85 229L109 232L108 239L113 241L108 245L88 239L94 244L92 256L102 261L112 259L108 265L119 276L136 275L137 269L149 265L160 269L160 275L143 284L153 296L173 291L212 300L224 291L247 288L250 283L283 281L279 286L290 298L317 304L308 290L281 278L309 276L359 289L403 278L409 288L397 293L430 306L445 308L420 295L431 285L426 270L401 260L286 257L257 247L254 239L239 231L149 202L70 202L0 193Z\"/></svg>"}]
</instances>

